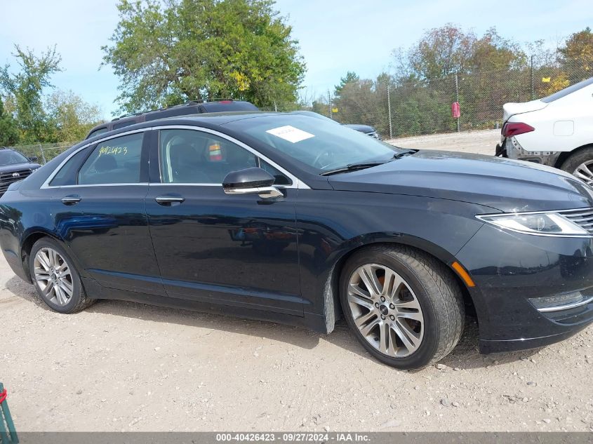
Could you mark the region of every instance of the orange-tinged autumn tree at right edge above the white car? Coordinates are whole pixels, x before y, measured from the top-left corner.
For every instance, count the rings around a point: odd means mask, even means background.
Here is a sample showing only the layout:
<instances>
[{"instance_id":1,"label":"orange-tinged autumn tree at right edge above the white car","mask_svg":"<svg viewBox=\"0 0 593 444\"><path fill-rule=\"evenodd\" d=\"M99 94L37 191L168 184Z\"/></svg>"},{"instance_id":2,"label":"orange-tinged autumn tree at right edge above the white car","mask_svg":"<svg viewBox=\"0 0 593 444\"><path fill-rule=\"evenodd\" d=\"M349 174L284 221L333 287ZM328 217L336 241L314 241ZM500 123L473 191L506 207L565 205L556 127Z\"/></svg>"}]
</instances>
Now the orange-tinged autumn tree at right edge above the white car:
<instances>
[{"instance_id":1,"label":"orange-tinged autumn tree at right edge above the white car","mask_svg":"<svg viewBox=\"0 0 593 444\"><path fill-rule=\"evenodd\" d=\"M575 32L566 39L566 43L559 48L561 65L571 83L584 80L593 76L593 32L586 27L580 32Z\"/></svg>"}]
</instances>

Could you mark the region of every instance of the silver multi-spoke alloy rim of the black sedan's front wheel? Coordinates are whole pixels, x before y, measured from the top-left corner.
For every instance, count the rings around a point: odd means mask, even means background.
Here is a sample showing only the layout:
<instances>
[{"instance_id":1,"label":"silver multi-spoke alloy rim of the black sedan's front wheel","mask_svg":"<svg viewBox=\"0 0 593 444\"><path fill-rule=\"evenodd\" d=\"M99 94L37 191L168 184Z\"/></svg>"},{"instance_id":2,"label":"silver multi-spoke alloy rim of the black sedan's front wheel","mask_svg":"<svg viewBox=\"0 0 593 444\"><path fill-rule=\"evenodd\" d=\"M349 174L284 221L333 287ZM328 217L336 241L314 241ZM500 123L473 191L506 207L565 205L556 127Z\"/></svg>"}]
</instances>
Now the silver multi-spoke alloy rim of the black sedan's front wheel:
<instances>
[{"instance_id":1,"label":"silver multi-spoke alloy rim of the black sedan's front wheel","mask_svg":"<svg viewBox=\"0 0 593 444\"><path fill-rule=\"evenodd\" d=\"M413 354L424 335L424 316L412 288L396 271L380 264L359 267L348 283L354 324L382 354Z\"/></svg>"}]
</instances>

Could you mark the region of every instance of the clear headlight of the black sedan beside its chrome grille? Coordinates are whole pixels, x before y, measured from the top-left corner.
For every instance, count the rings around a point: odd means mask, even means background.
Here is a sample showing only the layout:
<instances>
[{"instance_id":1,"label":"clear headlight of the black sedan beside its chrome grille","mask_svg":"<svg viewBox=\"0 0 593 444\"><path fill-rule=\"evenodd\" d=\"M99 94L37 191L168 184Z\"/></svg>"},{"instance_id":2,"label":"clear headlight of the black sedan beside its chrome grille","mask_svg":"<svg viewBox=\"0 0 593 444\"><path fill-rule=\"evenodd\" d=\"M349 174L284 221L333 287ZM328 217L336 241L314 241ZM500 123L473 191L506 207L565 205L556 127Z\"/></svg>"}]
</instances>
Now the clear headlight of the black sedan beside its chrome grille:
<instances>
[{"instance_id":1,"label":"clear headlight of the black sedan beside its chrome grille","mask_svg":"<svg viewBox=\"0 0 593 444\"><path fill-rule=\"evenodd\" d=\"M558 213L513 213L478 215L497 227L539 236L589 236L584 228Z\"/></svg>"}]
</instances>

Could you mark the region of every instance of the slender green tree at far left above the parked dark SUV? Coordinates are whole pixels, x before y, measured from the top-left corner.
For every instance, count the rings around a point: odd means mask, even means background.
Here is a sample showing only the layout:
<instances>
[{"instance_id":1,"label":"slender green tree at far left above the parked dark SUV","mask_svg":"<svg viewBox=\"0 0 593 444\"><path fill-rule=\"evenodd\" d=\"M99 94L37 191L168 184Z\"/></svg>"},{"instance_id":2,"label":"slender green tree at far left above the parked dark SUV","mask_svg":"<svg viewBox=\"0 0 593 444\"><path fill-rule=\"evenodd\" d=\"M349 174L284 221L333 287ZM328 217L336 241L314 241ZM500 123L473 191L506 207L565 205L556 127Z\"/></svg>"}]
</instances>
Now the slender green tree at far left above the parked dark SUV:
<instances>
[{"instance_id":1,"label":"slender green tree at far left above the parked dark SUV","mask_svg":"<svg viewBox=\"0 0 593 444\"><path fill-rule=\"evenodd\" d=\"M18 59L20 69L11 73L9 65L1 67L0 88L4 95L11 97L22 142L46 142L48 126L43 91L53 87L49 79L52 74L61 71L62 58L55 51L55 46L37 56L28 48L23 51L15 45L13 56Z\"/></svg>"}]
</instances>

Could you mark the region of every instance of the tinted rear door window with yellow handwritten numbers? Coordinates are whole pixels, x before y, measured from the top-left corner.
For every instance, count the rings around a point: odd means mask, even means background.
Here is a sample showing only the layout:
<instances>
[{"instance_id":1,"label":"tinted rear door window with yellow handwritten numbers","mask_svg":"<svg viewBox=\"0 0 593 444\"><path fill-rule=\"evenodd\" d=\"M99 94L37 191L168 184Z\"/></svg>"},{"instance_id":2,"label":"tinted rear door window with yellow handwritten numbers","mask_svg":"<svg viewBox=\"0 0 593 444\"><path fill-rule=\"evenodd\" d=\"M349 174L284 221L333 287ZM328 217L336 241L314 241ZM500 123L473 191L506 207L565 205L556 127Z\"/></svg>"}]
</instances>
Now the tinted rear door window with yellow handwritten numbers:
<instances>
[{"instance_id":1,"label":"tinted rear door window with yellow handwritten numbers","mask_svg":"<svg viewBox=\"0 0 593 444\"><path fill-rule=\"evenodd\" d=\"M140 182L143 133L125 135L97 144L80 168L79 184Z\"/></svg>"}]
</instances>

